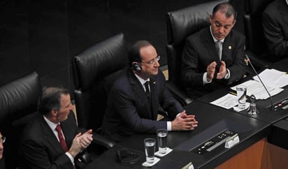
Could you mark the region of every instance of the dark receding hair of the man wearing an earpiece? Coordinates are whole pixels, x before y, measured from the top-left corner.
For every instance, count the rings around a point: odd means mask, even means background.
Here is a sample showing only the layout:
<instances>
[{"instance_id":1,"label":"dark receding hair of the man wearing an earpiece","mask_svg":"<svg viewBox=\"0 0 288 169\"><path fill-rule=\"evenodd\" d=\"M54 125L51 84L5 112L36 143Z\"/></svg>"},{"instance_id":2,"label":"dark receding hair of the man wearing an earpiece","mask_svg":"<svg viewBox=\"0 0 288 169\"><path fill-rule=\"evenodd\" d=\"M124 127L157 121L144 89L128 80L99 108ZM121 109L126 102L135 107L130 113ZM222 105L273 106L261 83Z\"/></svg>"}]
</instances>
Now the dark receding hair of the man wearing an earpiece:
<instances>
[{"instance_id":1,"label":"dark receding hair of the man wearing an earpiece","mask_svg":"<svg viewBox=\"0 0 288 169\"><path fill-rule=\"evenodd\" d=\"M134 61L141 62L142 57L140 55L141 47L152 45L149 41L137 41L133 46L131 46L128 50L128 61L129 67L132 66Z\"/></svg>"}]
</instances>

